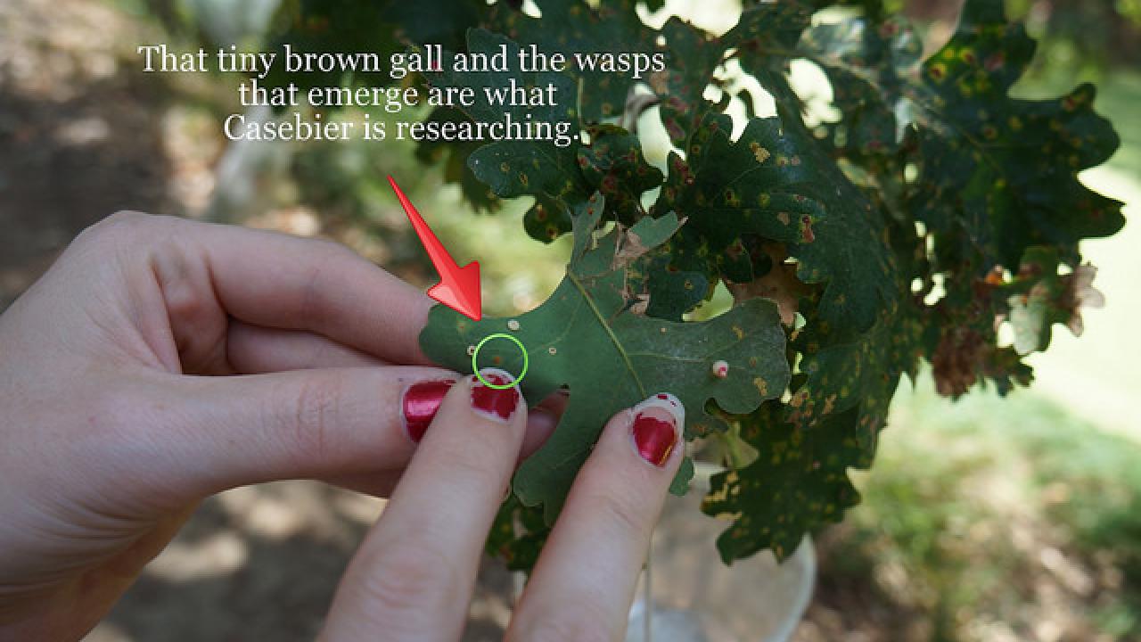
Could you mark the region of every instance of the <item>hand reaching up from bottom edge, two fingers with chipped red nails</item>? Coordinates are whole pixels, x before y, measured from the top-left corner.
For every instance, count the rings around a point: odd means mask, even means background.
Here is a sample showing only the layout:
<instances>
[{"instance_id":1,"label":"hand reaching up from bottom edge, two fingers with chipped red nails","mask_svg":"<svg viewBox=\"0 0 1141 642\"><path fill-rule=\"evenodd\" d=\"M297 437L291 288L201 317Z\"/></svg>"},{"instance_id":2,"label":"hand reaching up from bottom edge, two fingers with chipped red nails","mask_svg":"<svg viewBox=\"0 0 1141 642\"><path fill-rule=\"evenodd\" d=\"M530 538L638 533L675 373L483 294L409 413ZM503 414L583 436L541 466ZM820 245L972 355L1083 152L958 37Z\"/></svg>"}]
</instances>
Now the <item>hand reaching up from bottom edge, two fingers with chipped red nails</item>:
<instances>
[{"instance_id":1,"label":"hand reaching up from bottom edge, two fingers with chipped red nails","mask_svg":"<svg viewBox=\"0 0 1141 642\"><path fill-rule=\"evenodd\" d=\"M493 384L510 378L483 371ZM524 435L517 388L469 377L445 396L341 580L322 640L458 640L487 530ZM578 472L508 640L622 640L681 463L685 409L657 394L616 415Z\"/></svg>"}]
</instances>

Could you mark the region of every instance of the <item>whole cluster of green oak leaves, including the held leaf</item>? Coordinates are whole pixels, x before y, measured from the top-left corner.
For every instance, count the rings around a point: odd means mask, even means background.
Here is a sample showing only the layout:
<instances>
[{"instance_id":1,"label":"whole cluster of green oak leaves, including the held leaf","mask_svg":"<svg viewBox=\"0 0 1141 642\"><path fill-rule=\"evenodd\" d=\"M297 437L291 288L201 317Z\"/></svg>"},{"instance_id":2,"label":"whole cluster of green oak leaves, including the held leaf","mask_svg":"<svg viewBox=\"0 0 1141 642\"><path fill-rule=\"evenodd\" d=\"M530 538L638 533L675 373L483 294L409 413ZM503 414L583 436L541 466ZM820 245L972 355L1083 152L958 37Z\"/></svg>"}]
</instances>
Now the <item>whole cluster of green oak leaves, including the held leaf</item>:
<instances>
[{"instance_id":1,"label":"whole cluster of green oak leaves, including the held leaf","mask_svg":"<svg viewBox=\"0 0 1141 642\"><path fill-rule=\"evenodd\" d=\"M1011 97L1035 43L1008 22L1001 0L968 0L950 40L926 56L880 2L814 19L833 3L748 5L721 35L678 18L652 29L632 0L542 0L541 17L482 0L459 11L442 0L379 3L372 18L331 5L300 11L297 29L318 43L342 31L383 40L362 24L393 23L397 37L386 46L394 48L667 55L667 69L645 82L576 70L422 79L553 82L559 106L509 109L574 122L583 134L567 147L421 149L477 209L529 198L531 235L574 235L563 283L517 326L437 307L421 337L427 354L466 369L469 346L512 331L529 351L527 399L569 393L488 540L517 568L533 563L606 418L649 393L682 399L687 438L755 452L722 462L703 505L731 521L718 541L723 560L763 548L783 557L858 501L848 471L872 464L901 376L925 361L944 394L987 383L1006 392L1029 383L1022 359L1047 346L1053 323L1081 328L1078 307L1097 292L1078 244L1124 223L1119 202L1077 178L1118 146L1093 110L1094 89ZM823 70L833 117L809 117L791 81L793 61ZM734 74L754 78L775 113L758 115L762 96ZM734 101L745 106L744 123L727 115ZM647 106L672 145L664 168L646 162L633 129ZM501 115L477 105L429 118ZM693 321L719 283L734 307ZM1011 345L1001 340L1004 326ZM518 366L517 348L494 345L487 360ZM711 370L717 361L729 364L725 378Z\"/></svg>"}]
</instances>

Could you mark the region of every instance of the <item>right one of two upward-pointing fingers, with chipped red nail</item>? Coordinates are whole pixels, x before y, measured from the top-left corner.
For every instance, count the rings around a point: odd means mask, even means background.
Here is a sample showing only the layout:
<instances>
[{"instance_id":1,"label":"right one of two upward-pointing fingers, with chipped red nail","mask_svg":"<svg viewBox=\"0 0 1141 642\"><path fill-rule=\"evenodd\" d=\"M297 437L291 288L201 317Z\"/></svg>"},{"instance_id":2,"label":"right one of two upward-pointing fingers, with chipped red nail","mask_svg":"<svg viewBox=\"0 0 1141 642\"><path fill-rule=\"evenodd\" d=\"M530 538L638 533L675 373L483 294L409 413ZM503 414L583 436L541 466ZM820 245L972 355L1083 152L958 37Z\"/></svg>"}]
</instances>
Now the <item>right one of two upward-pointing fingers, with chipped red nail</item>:
<instances>
[{"instance_id":1,"label":"right one of two upward-pointing fingers, with chipped red nail","mask_svg":"<svg viewBox=\"0 0 1141 642\"><path fill-rule=\"evenodd\" d=\"M685 409L657 394L606 425L511 620L508 639L622 640L638 575L682 459Z\"/></svg>"}]
</instances>

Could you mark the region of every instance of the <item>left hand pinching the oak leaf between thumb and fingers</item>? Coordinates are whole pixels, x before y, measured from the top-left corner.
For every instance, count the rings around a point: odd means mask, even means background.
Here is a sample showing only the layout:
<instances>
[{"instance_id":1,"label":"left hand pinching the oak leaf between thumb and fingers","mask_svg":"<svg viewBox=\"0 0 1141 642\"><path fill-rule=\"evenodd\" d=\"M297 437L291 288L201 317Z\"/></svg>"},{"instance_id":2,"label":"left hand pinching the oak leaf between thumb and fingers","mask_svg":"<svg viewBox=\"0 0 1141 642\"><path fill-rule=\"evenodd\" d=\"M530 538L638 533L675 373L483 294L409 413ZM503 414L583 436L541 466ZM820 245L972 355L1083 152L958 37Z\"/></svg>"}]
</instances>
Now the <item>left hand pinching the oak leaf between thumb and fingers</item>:
<instances>
[{"instance_id":1,"label":"left hand pinching the oak leaf between thumb and fingers","mask_svg":"<svg viewBox=\"0 0 1141 642\"><path fill-rule=\"evenodd\" d=\"M0 315L0 639L81 637L220 490L387 495L459 377L418 347L430 304L326 241L138 214L83 232ZM532 411L524 451L553 424Z\"/></svg>"}]
</instances>

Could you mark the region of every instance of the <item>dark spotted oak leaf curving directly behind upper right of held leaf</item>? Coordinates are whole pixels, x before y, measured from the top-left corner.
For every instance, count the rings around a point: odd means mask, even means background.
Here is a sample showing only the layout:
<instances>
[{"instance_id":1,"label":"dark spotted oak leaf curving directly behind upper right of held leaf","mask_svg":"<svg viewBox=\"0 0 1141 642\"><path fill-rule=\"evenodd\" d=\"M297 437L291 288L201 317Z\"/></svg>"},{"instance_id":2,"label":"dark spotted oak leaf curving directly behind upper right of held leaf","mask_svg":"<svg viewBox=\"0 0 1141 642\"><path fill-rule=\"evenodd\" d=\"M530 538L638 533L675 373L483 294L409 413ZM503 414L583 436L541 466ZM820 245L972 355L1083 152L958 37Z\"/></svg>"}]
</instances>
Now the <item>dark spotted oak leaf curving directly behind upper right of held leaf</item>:
<instances>
[{"instance_id":1,"label":"dark spotted oak leaf curving directly behind upper right of held leaf","mask_svg":"<svg viewBox=\"0 0 1141 642\"><path fill-rule=\"evenodd\" d=\"M784 121L793 121L785 128ZM689 216L673 249L681 268L747 282L760 274L743 251L744 234L787 244L798 278L826 283L822 316L864 331L896 297L895 268L867 198L822 147L785 117L753 119L729 138L729 119L710 114L688 158L671 157L670 177L654 211Z\"/></svg>"}]
</instances>

